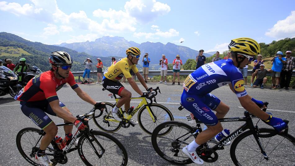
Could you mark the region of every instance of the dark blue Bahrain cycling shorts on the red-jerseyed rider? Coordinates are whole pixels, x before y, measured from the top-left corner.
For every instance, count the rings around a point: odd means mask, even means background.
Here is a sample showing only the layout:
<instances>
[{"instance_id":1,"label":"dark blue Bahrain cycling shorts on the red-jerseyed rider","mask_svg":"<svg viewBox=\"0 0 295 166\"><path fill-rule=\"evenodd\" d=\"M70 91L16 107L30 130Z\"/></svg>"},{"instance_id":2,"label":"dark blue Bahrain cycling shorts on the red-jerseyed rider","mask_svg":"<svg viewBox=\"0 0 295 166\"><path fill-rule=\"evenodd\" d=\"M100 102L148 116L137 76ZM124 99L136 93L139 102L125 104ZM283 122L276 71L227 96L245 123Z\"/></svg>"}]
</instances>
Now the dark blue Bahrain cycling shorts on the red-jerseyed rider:
<instances>
[{"instance_id":1,"label":"dark blue Bahrain cycling shorts on the red-jerseyed rider","mask_svg":"<svg viewBox=\"0 0 295 166\"><path fill-rule=\"evenodd\" d=\"M66 105L61 102L59 102L59 106L61 108L66 107ZM56 116L56 113L53 112L47 100L29 102L21 101L20 109L41 129L44 129L51 122L53 122L46 113L48 113L49 115Z\"/></svg>"}]
</instances>

